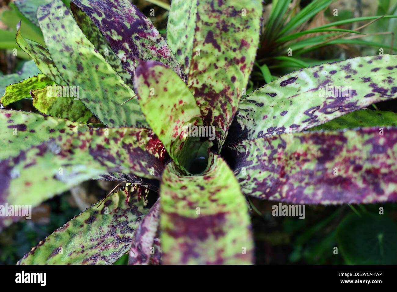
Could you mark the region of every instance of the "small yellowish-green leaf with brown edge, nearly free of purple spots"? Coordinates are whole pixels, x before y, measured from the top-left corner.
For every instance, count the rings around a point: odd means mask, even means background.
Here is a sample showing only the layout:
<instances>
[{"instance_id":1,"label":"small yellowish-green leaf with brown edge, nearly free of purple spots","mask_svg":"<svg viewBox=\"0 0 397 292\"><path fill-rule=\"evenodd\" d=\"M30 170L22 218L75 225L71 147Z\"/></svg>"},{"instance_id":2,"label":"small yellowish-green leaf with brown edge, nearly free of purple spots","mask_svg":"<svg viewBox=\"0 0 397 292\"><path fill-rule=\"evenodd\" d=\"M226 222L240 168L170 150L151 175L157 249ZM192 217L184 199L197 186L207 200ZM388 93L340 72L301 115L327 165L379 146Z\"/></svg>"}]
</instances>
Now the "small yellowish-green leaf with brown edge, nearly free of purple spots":
<instances>
[{"instance_id":1,"label":"small yellowish-green leaf with brown edge, nearly free of purple spots","mask_svg":"<svg viewBox=\"0 0 397 292\"><path fill-rule=\"evenodd\" d=\"M43 114L85 123L93 114L78 100L79 92L79 87L52 85L33 90L30 95L33 106Z\"/></svg>"}]
</instances>

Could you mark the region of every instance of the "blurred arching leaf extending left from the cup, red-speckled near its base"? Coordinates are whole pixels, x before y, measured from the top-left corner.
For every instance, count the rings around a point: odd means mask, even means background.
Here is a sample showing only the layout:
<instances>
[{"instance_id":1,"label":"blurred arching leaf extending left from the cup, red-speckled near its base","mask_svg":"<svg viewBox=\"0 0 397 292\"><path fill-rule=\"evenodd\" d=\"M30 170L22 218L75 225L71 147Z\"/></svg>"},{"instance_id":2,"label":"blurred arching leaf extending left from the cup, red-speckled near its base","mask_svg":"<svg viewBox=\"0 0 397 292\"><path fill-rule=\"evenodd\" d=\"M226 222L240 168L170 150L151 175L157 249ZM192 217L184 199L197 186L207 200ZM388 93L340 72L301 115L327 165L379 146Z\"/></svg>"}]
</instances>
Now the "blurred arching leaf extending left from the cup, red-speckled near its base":
<instances>
[{"instance_id":1,"label":"blurred arching leaf extending left from the cup, red-speckled near its base","mask_svg":"<svg viewBox=\"0 0 397 292\"><path fill-rule=\"evenodd\" d=\"M2 128L2 141L13 133L25 135L30 131L28 126ZM99 177L138 184L145 184L140 178L146 178L145 186L155 189L150 185L155 181L151 180L160 179L166 162L164 146L151 130L67 127L48 141L0 161L0 205L35 207L85 180ZM3 219L6 217L0 217L0 226Z\"/></svg>"}]
</instances>

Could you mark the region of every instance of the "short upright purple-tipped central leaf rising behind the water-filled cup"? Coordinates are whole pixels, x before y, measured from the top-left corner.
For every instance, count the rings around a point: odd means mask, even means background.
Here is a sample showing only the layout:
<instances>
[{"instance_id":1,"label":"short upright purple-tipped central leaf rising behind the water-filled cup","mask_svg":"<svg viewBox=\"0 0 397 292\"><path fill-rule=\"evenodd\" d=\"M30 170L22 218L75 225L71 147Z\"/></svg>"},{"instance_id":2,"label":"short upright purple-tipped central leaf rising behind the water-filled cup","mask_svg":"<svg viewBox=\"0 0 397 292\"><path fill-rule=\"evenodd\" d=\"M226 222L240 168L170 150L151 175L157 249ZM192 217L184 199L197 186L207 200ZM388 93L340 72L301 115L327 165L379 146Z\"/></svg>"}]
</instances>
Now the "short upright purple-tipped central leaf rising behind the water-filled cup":
<instances>
[{"instance_id":1,"label":"short upright purple-tipped central leaf rising behind the water-filled cup","mask_svg":"<svg viewBox=\"0 0 397 292\"><path fill-rule=\"evenodd\" d=\"M193 95L175 72L156 61L139 64L134 85L150 128L172 159L183 167L179 163L182 162L179 153L188 139L189 124L202 125L200 109Z\"/></svg>"}]
</instances>

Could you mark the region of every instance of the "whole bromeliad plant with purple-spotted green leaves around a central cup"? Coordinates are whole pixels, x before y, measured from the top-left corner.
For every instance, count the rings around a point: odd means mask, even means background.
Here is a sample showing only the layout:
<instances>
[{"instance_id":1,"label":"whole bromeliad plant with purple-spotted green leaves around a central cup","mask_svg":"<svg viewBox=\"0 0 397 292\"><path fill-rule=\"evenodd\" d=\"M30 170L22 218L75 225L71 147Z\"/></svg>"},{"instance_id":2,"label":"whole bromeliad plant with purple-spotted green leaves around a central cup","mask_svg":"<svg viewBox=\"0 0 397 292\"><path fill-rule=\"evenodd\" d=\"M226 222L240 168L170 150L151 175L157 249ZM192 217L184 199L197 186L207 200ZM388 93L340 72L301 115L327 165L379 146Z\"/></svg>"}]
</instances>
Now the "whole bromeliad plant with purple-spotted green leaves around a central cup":
<instances>
[{"instance_id":1,"label":"whole bromeliad plant with purple-spotted green leaves around a central cup","mask_svg":"<svg viewBox=\"0 0 397 292\"><path fill-rule=\"evenodd\" d=\"M168 44L127 0L73 0L71 11L74 18L60 0L38 8L46 46L17 32L41 73L8 86L2 103L30 92L46 115L1 110L0 203L37 206L89 179L128 184L20 264L110 264L128 250L133 264L248 264L244 195L397 200L395 116L360 111L397 97L396 56L302 69L240 101L259 40L259 0L173 0ZM53 85L79 86L79 99L48 95ZM337 86L351 90L324 90ZM363 128L304 131L349 122L355 110L368 115ZM84 124L91 113L105 128ZM213 126L215 139L194 137L189 124ZM150 211L145 188L160 194Z\"/></svg>"}]
</instances>

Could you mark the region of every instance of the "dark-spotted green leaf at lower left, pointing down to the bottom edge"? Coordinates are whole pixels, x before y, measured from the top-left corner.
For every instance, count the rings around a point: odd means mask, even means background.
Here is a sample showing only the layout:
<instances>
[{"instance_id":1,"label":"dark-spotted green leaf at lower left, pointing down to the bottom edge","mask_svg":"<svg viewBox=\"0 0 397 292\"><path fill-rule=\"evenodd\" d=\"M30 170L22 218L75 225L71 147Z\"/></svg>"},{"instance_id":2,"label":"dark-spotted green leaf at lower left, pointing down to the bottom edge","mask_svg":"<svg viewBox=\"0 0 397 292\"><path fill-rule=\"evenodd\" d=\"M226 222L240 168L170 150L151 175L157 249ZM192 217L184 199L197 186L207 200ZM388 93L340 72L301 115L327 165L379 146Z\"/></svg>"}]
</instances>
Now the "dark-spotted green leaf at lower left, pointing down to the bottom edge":
<instances>
[{"instance_id":1,"label":"dark-spotted green leaf at lower left, pointing down to the bottom edge","mask_svg":"<svg viewBox=\"0 0 397 292\"><path fill-rule=\"evenodd\" d=\"M147 213L134 186L109 196L75 216L40 241L19 260L19 265L110 265L125 254L135 229Z\"/></svg>"}]
</instances>

